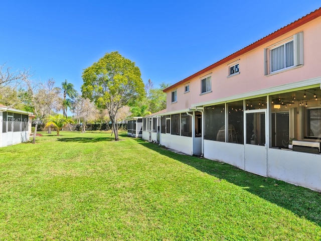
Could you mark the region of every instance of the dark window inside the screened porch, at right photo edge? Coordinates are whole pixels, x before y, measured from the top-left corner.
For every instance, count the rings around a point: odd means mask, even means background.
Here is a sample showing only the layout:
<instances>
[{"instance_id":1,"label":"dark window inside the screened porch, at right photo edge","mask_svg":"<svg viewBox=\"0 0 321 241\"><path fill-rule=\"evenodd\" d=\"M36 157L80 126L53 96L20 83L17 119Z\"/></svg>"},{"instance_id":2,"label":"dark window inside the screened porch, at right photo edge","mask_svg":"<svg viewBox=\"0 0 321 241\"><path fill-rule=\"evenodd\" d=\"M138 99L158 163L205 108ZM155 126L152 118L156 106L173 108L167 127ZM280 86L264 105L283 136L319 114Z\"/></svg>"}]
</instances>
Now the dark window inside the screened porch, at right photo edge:
<instances>
[{"instance_id":1,"label":"dark window inside the screened porch, at right photo edge","mask_svg":"<svg viewBox=\"0 0 321 241\"><path fill-rule=\"evenodd\" d=\"M306 110L307 119L307 138L321 137L321 108Z\"/></svg>"}]
</instances>

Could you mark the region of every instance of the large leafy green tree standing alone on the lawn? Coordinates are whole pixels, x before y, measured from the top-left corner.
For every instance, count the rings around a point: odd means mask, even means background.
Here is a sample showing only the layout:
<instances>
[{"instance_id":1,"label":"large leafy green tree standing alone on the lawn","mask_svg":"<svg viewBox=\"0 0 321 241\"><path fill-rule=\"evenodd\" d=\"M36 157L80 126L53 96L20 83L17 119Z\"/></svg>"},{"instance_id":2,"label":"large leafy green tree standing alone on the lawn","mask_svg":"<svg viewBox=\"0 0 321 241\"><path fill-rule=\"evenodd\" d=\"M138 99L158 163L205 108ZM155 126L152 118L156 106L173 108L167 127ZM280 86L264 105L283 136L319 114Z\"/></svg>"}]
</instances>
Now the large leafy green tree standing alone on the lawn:
<instances>
[{"instance_id":1,"label":"large leafy green tree standing alone on the lawn","mask_svg":"<svg viewBox=\"0 0 321 241\"><path fill-rule=\"evenodd\" d=\"M118 52L111 52L86 68L82 78L83 96L94 100L99 108L107 109L118 141L117 111L145 94L139 68Z\"/></svg>"}]
</instances>

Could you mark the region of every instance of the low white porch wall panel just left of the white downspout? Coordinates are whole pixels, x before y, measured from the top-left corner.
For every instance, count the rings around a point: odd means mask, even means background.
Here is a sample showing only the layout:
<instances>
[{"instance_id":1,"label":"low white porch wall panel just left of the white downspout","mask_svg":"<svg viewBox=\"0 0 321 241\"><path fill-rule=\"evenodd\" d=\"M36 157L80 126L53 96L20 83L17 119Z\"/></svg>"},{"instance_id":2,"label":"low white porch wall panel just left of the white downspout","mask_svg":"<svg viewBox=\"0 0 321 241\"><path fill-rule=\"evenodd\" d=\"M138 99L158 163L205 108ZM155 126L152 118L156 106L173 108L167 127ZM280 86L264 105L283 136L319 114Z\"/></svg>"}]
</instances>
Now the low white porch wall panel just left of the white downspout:
<instances>
[{"instance_id":1,"label":"low white porch wall panel just left of the white downspout","mask_svg":"<svg viewBox=\"0 0 321 241\"><path fill-rule=\"evenodd\" d=\"M193 155L193 139L191 137L161 134L161 144L168 148Z\"/></svg>"}]
</instances>

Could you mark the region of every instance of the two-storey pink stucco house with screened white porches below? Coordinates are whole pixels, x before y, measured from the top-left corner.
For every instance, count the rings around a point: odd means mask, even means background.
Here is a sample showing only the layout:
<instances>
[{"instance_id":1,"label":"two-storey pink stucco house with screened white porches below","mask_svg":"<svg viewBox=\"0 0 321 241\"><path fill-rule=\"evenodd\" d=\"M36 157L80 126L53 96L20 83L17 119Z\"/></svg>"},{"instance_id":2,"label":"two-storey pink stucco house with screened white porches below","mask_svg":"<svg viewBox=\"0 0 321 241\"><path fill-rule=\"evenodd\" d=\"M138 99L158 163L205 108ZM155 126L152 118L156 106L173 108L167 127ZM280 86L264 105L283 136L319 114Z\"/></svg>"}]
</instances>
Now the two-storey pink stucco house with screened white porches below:
<instances>
[{"instance_id":1,"label":"two-storey pink stucco house with screened white porches below","mask_svg":"<svg viewBox=\"0 0 321 241\"><path fill-rule=\"evenodd\" d=\"M321 8L173 84L142 138L321 191L320 40Z\"/></svg>"}]
</instances>

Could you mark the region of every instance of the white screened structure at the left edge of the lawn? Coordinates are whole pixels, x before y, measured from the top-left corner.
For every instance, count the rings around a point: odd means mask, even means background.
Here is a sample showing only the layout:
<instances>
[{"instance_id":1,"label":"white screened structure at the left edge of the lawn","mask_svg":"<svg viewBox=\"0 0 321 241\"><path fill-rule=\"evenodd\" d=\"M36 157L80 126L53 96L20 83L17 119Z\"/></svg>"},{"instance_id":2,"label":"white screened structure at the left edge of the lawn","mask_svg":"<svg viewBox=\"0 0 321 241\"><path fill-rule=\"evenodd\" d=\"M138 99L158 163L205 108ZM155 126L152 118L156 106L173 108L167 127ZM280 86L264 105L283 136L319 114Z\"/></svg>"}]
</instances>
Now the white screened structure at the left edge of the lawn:
<instances>
[{"instance_id":1,"label":"white screened structure at the left edge of the lawn","mask_svg":"<svg viewBox=\"0 0 321 241\"><path fill-rule=\"evenodd\" d=\"M0 107L0 147L29 142L31 114L23 110Z\"/></svg>"}]
</instances>

